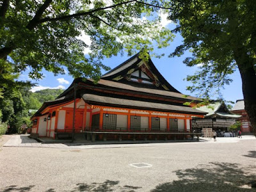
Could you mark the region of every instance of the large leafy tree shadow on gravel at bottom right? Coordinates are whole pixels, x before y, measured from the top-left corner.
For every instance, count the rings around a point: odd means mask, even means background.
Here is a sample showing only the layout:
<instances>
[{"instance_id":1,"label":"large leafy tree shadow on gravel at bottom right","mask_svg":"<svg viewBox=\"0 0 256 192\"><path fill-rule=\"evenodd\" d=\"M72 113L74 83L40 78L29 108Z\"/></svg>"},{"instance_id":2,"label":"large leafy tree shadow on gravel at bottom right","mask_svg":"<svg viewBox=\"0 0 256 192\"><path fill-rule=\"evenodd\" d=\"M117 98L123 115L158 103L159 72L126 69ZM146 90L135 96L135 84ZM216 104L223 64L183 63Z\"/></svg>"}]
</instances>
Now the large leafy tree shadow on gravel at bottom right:
<instances>
[{"instance_id":1,"label":"large leafy tree shadow on gravel at bottom right","mask_svg":"<svg viewBox=\"0 0 256 192\"><path fill-rule=\"evenodd\" d=\"M159 184L151 192L167 191L256 191L256 166L241 168L237 163L200 164L175 171L179 180Z\"/></svg>"}]
</instances>

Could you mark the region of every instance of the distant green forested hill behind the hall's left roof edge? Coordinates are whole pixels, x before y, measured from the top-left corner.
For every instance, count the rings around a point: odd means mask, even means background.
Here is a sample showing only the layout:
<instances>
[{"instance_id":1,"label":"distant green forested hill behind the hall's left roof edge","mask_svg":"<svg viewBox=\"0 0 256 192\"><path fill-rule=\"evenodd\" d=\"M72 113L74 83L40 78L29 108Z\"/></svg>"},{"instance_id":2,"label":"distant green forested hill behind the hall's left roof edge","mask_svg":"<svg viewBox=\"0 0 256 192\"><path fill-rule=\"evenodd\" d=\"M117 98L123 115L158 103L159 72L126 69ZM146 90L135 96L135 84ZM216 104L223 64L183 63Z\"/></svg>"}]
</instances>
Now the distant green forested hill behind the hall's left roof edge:
<instances>
[{"instance_id":1,"label":"distant green forested hill behind the hall's left roof edge","mask_svg":"<svg viewBox=\"0 0 256 192\"><path fill-rule=\"evenodd\" d=\"M28 109L39 109L45 101L54 100L63 92L64 90L61 89L46 89L35 93L30 92Z\"/></svg>"}]
</instances>

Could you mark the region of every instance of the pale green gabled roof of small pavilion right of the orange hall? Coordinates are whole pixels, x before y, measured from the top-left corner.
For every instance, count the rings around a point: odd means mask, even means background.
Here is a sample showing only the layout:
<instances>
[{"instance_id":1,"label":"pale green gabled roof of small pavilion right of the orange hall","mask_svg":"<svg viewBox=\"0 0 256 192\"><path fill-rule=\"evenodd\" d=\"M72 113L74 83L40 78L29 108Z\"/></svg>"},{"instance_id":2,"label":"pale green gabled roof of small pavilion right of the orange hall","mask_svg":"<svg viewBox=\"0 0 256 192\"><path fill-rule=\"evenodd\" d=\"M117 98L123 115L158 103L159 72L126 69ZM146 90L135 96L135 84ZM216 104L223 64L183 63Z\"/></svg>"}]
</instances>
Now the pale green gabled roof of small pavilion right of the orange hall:
<instances>
[{"instance_id":1,"label":"pale green gabled roof of small pavilion right of the orange hall","mask_svg":"<svg viewBox=\"0 0 256 192\"><path fill-rule=\"evenodd\" d=\"M231 113L224 102L214 102L207 106L202 106L196 109L207 112L207 115L205 115L205 117L222 116L228 118L239 118L241 116Z\"/></svg>"}]
</instances>

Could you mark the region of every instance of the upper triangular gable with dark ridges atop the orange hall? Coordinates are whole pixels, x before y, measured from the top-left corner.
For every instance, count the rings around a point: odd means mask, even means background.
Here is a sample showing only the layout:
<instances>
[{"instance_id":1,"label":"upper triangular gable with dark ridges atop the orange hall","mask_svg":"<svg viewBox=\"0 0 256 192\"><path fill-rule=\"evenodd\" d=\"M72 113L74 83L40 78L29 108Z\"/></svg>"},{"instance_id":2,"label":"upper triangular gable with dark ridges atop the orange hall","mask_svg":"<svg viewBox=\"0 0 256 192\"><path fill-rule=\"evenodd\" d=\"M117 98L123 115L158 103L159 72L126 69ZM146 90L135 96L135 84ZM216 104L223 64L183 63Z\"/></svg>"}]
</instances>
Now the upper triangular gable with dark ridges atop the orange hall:
<instances>
[{"instance_id":1,"label":"upper triangular gable with dark ridges atop the orange hall","mask_svg":"<svg viewBox=\"0 0 256 192\"><path fill-rule=\"evenodd\" d=\"M100 79L180 93L164 79L150 58L148 61L143 61L139 58L139 53L113 68Z\"/></svg>"}]
</instances>

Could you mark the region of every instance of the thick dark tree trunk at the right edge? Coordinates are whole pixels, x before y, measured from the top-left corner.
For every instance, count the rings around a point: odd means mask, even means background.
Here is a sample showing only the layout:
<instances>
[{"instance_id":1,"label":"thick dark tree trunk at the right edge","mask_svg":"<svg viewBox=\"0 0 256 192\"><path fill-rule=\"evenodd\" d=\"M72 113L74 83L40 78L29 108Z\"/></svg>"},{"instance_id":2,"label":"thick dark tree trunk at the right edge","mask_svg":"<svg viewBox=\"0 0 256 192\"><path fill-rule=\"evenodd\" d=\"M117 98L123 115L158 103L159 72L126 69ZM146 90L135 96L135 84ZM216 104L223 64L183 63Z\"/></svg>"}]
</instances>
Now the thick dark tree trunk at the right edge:
<instances>
[{"instance_id":1,"label":"thick dark tree trunk at the right edge","mask_svg":"<svg viewBox=\"0 0 256 192\"><path fill-rule=\"evenodd\" d=\"M253 68L253 61L248 58L246 52L241 50L237 52L236 56L243 84L245 111L248 113L256 136L256 74Z\"/></svg>"}]
</instances>

